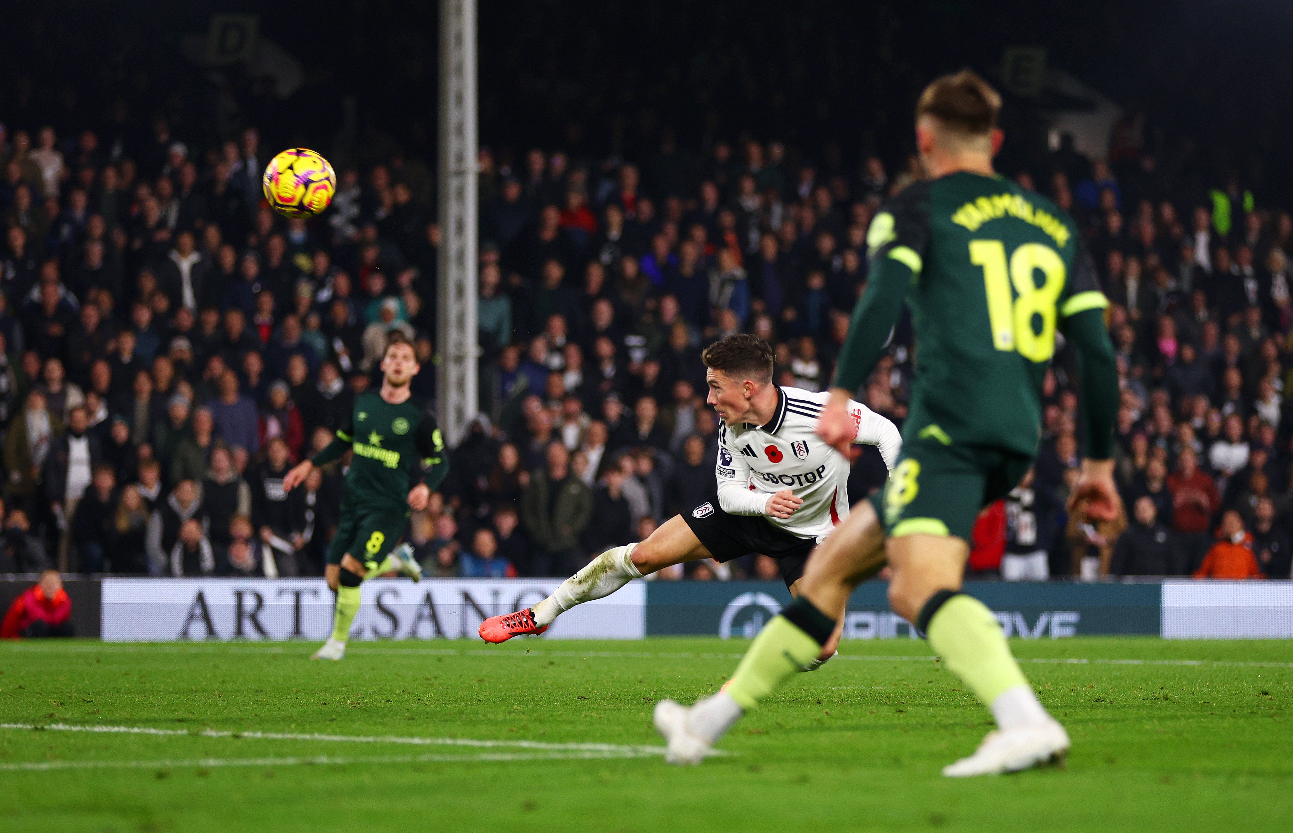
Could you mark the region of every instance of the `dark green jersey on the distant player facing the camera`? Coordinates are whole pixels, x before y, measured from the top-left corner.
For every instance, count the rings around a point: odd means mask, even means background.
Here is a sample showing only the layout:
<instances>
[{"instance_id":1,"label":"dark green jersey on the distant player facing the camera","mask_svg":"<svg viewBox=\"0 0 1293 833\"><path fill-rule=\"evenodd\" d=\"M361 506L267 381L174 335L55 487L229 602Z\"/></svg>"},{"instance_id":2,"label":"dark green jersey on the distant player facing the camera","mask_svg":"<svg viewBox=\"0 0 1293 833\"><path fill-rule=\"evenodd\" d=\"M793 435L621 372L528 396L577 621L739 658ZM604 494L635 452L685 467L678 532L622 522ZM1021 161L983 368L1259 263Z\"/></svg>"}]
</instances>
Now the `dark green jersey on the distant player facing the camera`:
<instances>
[{"instance_id":1,"label":"dark green jersey on the distant player facing the camera","mask_svg":"<svg viewBox=\"0 0 1293 833\"><path fill-rule=\"evenodd\" d=\"M340 457L345 448L354 451L345 476L348 506L406 512L409 490L415 477L427 471L427 485L434 489L447 470L445 441L428 404L409 397L398 405L365 391L337 428L336 440L314 457L322 466Z\"/></svg>"}]
</instances>

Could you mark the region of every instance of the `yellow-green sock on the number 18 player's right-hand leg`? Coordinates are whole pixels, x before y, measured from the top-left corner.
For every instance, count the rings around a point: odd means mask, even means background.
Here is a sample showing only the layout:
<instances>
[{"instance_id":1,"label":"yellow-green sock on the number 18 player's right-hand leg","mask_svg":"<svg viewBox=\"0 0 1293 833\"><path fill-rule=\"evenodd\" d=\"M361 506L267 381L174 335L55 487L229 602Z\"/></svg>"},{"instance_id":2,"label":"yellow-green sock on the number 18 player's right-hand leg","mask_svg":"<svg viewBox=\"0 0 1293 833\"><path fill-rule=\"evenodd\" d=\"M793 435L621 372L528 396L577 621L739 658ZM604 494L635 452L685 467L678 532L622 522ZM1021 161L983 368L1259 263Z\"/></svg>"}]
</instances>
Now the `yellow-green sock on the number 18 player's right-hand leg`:
<instances>
[{"instance_id":1,"label":"yellow-green sock on the number 18 player's right-hand leg","mask_svg":"<svg viewBox=\"0 0 1293 833\"><path fill-rule=\"evenodd\" d=\"M1028 686L992 611L974 596L943 603L927 629L930 645L988 706L1009 688ZM1031 689L1029 689L1031 691Z\"/></svg>"}]
</instances>

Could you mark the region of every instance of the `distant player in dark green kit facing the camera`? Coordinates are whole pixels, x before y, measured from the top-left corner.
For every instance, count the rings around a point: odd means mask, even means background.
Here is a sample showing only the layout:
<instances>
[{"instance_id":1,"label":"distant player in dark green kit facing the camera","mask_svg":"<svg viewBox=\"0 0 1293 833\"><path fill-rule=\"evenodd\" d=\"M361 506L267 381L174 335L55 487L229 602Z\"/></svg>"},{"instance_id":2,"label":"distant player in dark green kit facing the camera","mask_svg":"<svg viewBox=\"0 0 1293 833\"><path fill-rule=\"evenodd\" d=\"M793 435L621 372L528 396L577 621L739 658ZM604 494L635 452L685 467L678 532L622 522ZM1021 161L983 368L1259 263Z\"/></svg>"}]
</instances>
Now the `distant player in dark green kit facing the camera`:
<instances>
[{"instance_id":1,"label":"distant player in dark green kit facing the camera","mask_svg":"<svg viewBox=\"0 0 1293 833\"><path fill-rule=\"evenodd\" d=\"M398 332L392 335L381 358L381 388L361 393L332 442L283 477L283 490L291 492L315 466L354 451L325 568L327 585L336 592L336 622L314 660L345 656L350 623L359 612L359 585L366 578L398 572L422 579L412 547L396 545L409 511L427 508L432 490L449 473L449 457L428 404L409 388L420 370L412 344ZM410 489L414 479L419 482Z\"/></svg>"}]
</instances>

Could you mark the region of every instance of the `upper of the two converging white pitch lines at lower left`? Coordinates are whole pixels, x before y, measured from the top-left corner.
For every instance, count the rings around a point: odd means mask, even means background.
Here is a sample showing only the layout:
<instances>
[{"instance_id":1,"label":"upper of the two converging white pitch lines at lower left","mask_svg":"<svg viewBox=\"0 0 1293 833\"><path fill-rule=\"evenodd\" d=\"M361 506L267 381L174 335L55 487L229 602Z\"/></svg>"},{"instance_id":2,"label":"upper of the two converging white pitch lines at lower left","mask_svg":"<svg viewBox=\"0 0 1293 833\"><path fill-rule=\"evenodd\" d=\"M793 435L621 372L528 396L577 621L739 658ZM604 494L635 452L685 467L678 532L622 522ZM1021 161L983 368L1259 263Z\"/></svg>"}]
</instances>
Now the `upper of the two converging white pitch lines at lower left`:
<instances>
[{"instance_id":1,"label":"upper of the two converging white pitch lines at lower left","mask_svg":"<svg viewBox=\"0 0 1293 833\"><path fill-rule=\"evenodd\" d=\"M663 746L617 744L548 744L533 740L476 740L471 737L402 737L397 735L319 735L314 732L234 732L226 730L164 730L151 726L71 726L67 723L0 723L0 730L43 732L89 732L103 735L154 735L163 737L234 737L247 740L301 740L344 744L406 744L412 746L476 746L484 749L535 749L543 752L587 752L597 754L662 755Z\"/></svg>"}]
</instances>

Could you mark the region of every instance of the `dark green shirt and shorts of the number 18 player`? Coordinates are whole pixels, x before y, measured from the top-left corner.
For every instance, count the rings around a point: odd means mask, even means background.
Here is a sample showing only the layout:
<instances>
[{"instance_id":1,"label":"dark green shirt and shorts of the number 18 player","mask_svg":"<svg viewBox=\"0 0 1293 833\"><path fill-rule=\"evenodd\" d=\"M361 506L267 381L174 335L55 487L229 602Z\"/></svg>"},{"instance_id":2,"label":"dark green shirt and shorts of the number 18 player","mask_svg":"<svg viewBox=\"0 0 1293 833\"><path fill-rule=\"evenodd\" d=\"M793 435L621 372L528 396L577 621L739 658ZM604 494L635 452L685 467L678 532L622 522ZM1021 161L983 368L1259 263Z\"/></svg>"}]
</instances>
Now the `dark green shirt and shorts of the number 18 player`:
<instances>
[{"instance_id":1,"label":"dark green shirt and shorts of the number 18 player","mask_svg":"<svg viewBox=\"0 0 1293 833\"><path fill-rule=\"evenodd\" d=\"M970 538L979 510L1024 476L1041 436L1041 387L1056 331L1082 361L1087 457L1109 457L1117 375L1108 301L1073 221L999 176L912 185L871 221L870 273L835 387L870 375L905 301L915 378L903 453L873 498L891 536ZM1104 361L1107 360L1107 361Z\"/></svg>"}]
</instances>

